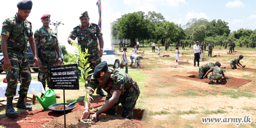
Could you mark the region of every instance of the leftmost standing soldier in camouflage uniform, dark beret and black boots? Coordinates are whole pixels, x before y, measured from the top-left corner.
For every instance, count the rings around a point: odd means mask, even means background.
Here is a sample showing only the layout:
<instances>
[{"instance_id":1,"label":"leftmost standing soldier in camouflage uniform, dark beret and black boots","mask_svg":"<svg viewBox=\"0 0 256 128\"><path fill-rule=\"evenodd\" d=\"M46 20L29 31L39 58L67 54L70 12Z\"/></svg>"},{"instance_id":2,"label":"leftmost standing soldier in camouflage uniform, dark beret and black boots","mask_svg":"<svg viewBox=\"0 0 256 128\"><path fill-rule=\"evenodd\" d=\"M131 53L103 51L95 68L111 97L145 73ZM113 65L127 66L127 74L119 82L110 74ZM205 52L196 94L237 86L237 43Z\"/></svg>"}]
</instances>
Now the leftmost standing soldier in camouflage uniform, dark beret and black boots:
<instances>
[{"instance_id":1,"label":"leftmost standing soldier in camouflage uniform, dark beret and black boots","mask_svg":"<svg viewBox=\"0 0 256 128\"><path fill-rule=\"evenodd\" d=\"M20 1L17 4L18 13L13 17L5 19L2 27L1 47L4 55L4 70L7 72L7 97L6 115L16 117L18 113L13 109L12 100L16 95L18 81L20 88L17 102L18 109L32 110L31 106L25 104L24 99L27 96L31 82L31 71L27 54L27 43L34 54L35 65L40 65L37 60L35 42L33 38L32 25L27 20L32 9L32 1Z\"/></svg>"}]
</instances>

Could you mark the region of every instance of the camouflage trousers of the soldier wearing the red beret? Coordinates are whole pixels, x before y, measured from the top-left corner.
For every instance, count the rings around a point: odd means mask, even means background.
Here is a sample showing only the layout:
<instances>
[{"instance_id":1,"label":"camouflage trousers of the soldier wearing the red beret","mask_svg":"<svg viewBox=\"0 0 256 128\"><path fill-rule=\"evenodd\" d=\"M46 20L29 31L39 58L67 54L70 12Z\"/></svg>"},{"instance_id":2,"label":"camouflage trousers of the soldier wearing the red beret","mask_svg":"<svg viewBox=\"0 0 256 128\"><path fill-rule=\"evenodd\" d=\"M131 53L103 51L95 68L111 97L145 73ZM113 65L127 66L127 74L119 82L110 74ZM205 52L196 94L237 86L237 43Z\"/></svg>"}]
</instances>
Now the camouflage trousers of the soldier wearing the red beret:
<instances>
[{"instance_id":1,"label":"camouflage trousers of the soldier wearing the red beret","mask_svg":"<svg viewBox=\"0 0 256 128\"><path fill-rule=\"evenodd\" d=\"M41 50L39 54L39 58L42 62L42 66L39 66L38 71L38 81L42 83L42 86L46 87L46 81L47 86L49 89L51 89L51 77L50 77L50 66L56 66L56 53L55 51L43 51Z\"/></svg>"}]
</instances>

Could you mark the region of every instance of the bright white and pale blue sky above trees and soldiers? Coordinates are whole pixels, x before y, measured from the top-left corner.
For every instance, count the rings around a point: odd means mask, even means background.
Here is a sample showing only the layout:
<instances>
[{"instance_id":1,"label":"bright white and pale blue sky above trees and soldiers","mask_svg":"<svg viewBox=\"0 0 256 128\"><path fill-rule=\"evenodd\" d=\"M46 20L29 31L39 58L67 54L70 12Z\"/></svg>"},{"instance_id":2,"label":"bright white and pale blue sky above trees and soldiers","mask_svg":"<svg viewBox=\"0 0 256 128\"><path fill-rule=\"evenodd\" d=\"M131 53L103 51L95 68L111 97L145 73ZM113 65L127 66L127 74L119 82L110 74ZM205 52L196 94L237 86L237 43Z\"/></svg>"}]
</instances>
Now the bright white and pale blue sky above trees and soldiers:
<instances>
[{"instance_id":1,"label":"bright white and pale blue sky above trees and soldiers","mask_svg":"<svg viewBox=\"0 0 256 128\"><path fill-rule=\"evenodd\" d=\"M20 0L1 1L0 22L17 11L17 3ZM65 25L58 27L58 40L60 44L66 45L68 52L74 49L67 44L67 37L74 27L80 24L79 15L88 10L90 22L98 23L99 14L96 6L97 0L73 0L57 1L45 0L33 2L30 16L27 18L33 25L33 31L40 28L42 23L40 17L51 14L51 22L61 21ZM256 29L256 1L188 1L188 0L101 0L102 3L102 33L104 48L110 48L110 23L123 14L135 11L148 11L162 13L166 20L176 24L185 25L191 18L204 17L222 19L228 22L229 29L237 31L240 28ZM0 24L2 28L2 24ZM50 26L55 29L54 26Z\"/></svg>"}]
</instances>

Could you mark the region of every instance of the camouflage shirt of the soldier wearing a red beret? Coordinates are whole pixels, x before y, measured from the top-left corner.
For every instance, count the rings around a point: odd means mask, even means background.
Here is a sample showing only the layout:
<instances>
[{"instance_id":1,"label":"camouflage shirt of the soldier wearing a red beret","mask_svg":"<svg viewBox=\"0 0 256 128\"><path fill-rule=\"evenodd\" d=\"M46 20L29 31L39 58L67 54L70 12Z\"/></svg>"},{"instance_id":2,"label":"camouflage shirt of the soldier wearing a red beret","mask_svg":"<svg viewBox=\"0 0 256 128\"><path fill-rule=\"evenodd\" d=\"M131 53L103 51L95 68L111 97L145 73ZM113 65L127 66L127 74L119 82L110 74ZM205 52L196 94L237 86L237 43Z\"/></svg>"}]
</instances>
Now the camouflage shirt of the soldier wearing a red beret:
<instances>
[{"instance_id":1,"label":"camouflage shirt of the soldier wearing a red beret","mask_svg":"<svg viewBox=\"0 0 256 128\"><path fill-rule=\"evenodd\" d=\"M56 32L49 28L47 30L44 26L37 29L34 34L35 41L38 42L38 46L44 48L54 48L58 43Z\"/></svg>"}]
</instances>

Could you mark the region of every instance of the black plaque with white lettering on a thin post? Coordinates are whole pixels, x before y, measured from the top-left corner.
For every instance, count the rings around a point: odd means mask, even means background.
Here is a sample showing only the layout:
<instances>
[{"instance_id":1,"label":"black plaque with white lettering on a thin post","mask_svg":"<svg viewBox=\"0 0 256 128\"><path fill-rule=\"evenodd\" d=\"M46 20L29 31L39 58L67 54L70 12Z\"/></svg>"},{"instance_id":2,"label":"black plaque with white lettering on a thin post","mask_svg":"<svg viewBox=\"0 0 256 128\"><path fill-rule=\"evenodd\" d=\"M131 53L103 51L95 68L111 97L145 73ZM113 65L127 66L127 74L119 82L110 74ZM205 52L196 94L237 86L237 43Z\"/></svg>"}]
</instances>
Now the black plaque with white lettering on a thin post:
<instances>
[{"instance_id":1,"label":"black plaque with white lettering on a thin post","mask_svg":"<svg viewBox=\"0 0 256 128\"><path fill-rule=\"evenodd\" d=\"M50 67L51 89L79 90L77 64Z\"/></svg>"}]
</instances>

